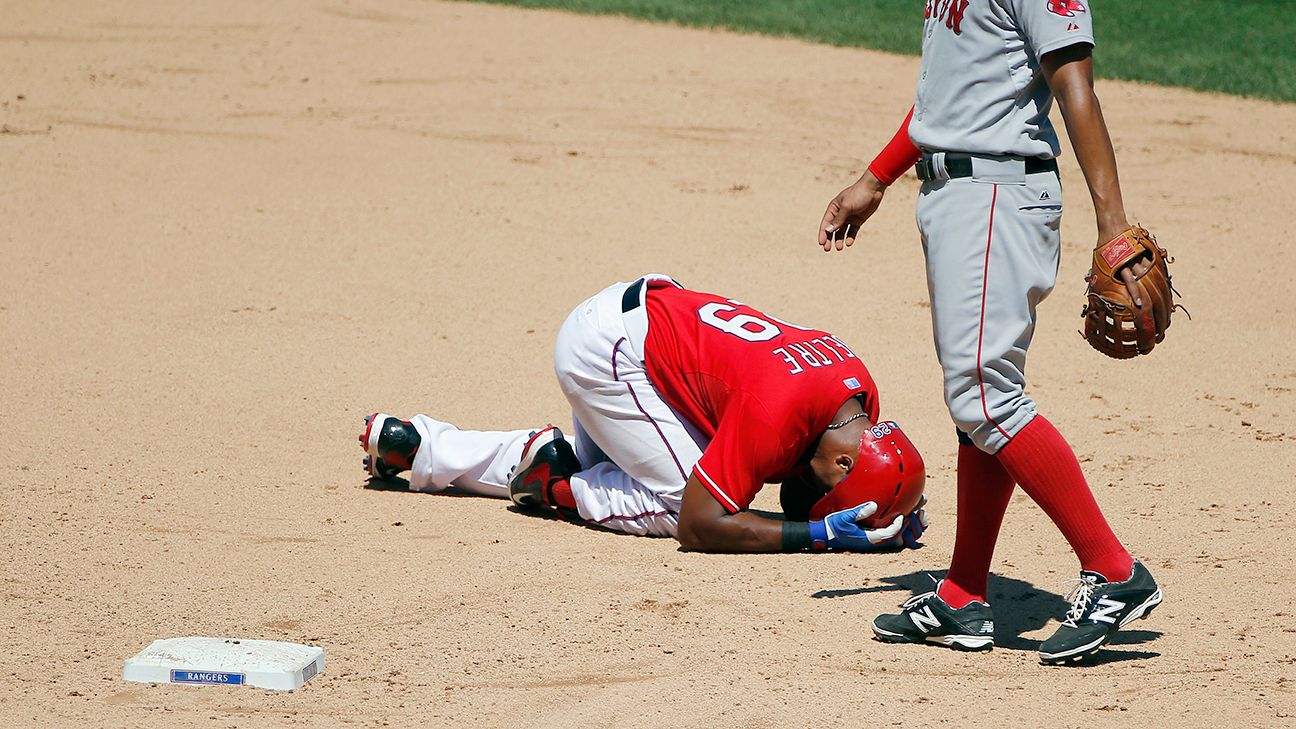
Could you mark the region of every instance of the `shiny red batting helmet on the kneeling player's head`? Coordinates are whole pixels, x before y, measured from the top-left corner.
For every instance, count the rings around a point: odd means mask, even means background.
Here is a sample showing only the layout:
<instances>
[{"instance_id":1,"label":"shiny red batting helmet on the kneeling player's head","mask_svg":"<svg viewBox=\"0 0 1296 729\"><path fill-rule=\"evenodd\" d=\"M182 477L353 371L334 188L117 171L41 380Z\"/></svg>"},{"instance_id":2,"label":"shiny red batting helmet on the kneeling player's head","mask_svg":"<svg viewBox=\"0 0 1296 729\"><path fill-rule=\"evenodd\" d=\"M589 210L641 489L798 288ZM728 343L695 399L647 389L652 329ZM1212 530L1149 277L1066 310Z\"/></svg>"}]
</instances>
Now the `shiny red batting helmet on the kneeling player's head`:
<instances>
[{"instance_id":1,"label":"shiny red batting helmet on the kneeling player's head","mask_svg":"<svg viewBox=\"0 0 1296 729\"><path fill-rule=\"evenodd\" d=\"M896 515L918 507L925 481L927 468L918 449L899 425L884 420L864 429L854 467L810 507L810 519L819 520L833 511L872 501L877 511L866 524L881 527L892 523Z\"/></svg>"}]
</instances>

